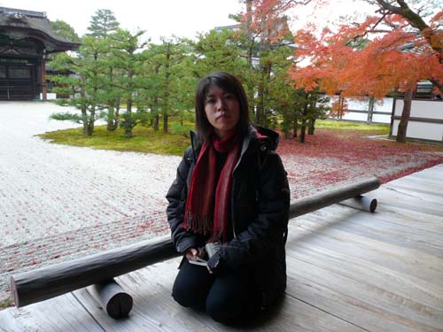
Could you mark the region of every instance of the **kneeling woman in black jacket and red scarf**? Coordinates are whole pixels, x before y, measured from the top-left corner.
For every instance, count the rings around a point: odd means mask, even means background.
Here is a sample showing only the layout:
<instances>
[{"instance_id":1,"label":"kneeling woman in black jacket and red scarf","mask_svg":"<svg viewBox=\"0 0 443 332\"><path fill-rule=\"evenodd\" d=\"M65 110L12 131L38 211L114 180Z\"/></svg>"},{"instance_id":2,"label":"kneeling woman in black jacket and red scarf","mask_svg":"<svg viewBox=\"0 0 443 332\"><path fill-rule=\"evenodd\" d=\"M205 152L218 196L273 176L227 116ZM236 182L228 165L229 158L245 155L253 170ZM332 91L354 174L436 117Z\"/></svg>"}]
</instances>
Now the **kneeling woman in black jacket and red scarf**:
<instances>
[{"instance_id":1,"label":"kneeling woman in black jacket and red scarf","mask_svg":"<svg viewBox=\"0 0 443 332\"><path fill-rule=\"evenodd\" d=\"M253 127L245 90L229 73L198 83L197 135L167 192L167 219L184 258L173 297L233 324L266 308L286 287L290 191L278 135ZM221 243L208 259L206 243ZM195 263L207 259L207 266Z\"/></svg>"}]
</instances>

